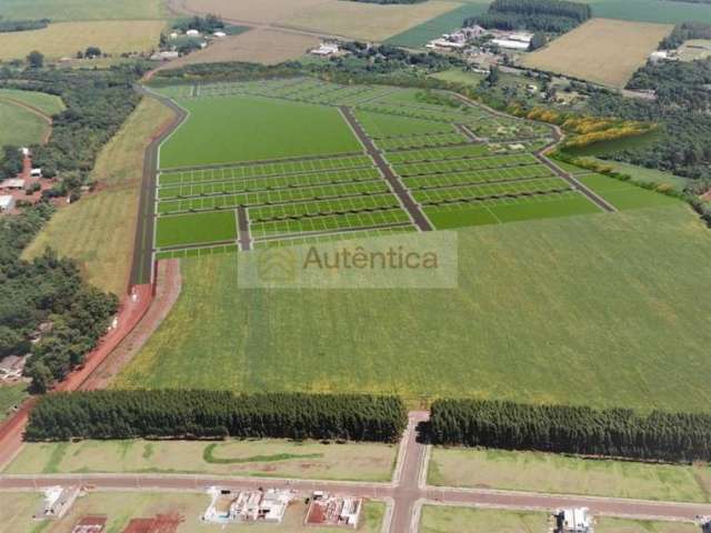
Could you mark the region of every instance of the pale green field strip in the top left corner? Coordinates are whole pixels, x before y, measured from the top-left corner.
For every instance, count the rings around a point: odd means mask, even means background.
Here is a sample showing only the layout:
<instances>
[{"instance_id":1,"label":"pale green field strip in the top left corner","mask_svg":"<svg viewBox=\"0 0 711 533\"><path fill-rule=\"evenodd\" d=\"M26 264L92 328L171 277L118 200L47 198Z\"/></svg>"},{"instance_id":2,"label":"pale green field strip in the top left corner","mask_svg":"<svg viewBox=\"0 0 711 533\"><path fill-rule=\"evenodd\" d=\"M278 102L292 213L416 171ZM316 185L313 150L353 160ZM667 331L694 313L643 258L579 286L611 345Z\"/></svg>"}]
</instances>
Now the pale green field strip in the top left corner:
<instances>
[{"instance_id":1,"label":"pale green field strip in the top left corner","mask_svg":"<svg viewBox=\"0 0 711 533\"><path fill-rule=\"evenodd\" d=\"M161 0L2 0L0 8L0 14L16 20L137 20L162 19L168 14Z\"/></svg>"}]
</instances>

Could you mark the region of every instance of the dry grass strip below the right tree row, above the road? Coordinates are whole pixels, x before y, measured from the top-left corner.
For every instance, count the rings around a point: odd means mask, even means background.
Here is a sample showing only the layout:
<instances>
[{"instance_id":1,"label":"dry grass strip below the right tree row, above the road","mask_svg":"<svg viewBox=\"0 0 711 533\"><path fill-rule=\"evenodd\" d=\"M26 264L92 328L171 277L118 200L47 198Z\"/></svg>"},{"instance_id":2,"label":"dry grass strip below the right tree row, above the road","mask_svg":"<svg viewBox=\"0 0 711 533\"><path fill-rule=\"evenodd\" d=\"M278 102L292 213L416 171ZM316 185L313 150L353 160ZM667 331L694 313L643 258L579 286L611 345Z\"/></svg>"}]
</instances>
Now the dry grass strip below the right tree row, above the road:
<instances>
[{"instance_id":1,"label":"dry grass strip below the right tree row, above the road","mask_svg":"<svg viewBox=\"0 0 711 533\"><path fill-rule=\"evenodd\" d=\"M711 469L585 460L539 452L434 447L428 483L708 503Z\"/></svg>"}]
</instances>

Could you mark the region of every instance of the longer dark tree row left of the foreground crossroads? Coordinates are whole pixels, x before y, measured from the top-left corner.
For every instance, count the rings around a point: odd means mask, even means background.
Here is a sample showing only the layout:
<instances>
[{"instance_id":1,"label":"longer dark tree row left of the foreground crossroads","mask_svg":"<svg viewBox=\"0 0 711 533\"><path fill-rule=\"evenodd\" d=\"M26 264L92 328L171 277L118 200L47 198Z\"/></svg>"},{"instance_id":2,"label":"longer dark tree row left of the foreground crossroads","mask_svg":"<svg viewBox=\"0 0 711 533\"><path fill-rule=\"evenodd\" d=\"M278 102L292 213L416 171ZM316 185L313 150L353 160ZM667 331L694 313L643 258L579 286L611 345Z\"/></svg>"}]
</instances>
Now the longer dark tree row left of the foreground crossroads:
<instances>
[{"instance_id":1,"label":"longer dark tree row left of the foreground crossroads","mask_svg":"<svg viewBox=\"0 0 711 533\"><path fill-rule=\"evenodd\" d=\"M26 439L281 438L394 442L407 426L398 396L112 390L51 393Z\"/></svg>"}]
</instances>

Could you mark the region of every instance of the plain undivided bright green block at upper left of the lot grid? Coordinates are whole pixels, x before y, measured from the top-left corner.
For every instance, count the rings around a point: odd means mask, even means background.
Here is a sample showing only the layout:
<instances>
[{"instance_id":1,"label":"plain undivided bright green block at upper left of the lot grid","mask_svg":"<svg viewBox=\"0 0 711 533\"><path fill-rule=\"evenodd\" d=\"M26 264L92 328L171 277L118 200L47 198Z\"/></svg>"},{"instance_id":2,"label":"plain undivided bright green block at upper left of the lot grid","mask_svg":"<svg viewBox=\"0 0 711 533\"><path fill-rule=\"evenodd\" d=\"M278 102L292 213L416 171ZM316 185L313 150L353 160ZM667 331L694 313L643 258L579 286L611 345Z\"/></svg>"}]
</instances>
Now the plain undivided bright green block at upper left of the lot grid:
<instances>
[{"instance_id":1,"label":"plain undivided bright green block at upper left of the lot grid","mask_svg":"<svg viewBox=\"0 0 711 533\"><path fill-rule=\"evenodd\" d=\"M190 118L163 143L161 168L362 151L334 108L257 97L180 104Z\"/></svg>"}]
</instances>

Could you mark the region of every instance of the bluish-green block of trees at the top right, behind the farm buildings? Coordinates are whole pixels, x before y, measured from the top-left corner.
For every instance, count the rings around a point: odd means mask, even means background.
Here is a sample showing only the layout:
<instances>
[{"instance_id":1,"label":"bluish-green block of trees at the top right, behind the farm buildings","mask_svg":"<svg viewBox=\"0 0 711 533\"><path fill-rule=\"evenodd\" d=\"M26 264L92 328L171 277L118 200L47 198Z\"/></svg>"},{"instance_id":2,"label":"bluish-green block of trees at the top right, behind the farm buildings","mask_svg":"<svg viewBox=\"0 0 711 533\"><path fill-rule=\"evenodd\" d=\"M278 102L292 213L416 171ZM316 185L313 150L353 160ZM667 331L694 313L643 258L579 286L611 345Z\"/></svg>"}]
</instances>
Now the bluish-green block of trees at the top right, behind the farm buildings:
<instances>
[{"instance_id":1,"label":"bluish-green block of trees at the top right, behind the farm buildings","mask_svg":"<svg viewBox=\"0 0 711 533\"><path fill-rule=\"evenodd\" d=\"M494 0L489 10L464 20L465 27L564 33L592 17L590 6L563 0Z\"/></svg>"}]
</instances>

